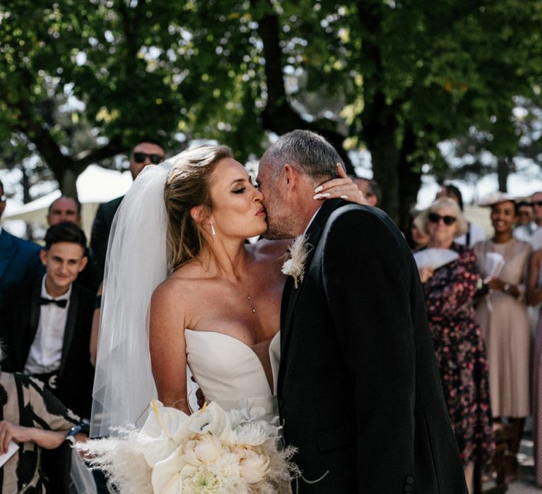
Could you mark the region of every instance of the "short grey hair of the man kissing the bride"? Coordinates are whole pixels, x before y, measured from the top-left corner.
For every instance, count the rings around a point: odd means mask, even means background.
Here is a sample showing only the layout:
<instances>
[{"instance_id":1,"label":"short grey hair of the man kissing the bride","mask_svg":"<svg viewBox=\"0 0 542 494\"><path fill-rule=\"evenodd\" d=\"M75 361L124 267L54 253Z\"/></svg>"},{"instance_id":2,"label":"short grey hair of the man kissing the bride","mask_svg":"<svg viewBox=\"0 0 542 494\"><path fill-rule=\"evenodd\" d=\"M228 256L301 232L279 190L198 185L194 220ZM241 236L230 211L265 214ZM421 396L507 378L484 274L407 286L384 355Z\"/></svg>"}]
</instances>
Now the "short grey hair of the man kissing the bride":
<instances>
[{"instance_id":1,"label":"short grey hair of the man kissing the bride","mask_svg":"<svg viewBox=\"0 0 542 494\"><path fill-rule=\"evenodd\" d=\"M267 160L274 166L288 163L311 177L336 178L337 163L342 164L339 153L321 135L311 131L291 131L282 135L265 152Z\"/></svg>"}]
</instances>

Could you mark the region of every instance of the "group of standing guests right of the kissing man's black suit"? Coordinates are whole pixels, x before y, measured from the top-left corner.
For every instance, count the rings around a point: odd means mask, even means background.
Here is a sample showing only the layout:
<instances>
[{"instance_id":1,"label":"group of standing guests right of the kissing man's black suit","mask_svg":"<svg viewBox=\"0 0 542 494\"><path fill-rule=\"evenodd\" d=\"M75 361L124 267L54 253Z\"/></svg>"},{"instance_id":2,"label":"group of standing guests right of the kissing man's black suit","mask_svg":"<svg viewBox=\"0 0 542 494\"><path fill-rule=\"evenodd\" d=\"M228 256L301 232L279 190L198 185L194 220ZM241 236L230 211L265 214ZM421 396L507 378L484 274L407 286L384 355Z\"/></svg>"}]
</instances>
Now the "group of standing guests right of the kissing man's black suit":
<instances>
[{"instance_id":1,"label":"group of standing guests right of the kissing man's black suit","mask_svg":"<svg viewBox=\"0 0 542 494\"><path fill-rule=\"evenodd\" d=\"M444 265L418 269L467 480L474 463L491 459L493 432L502 424L512 435L505 471L515 478L532 415L542 487L542 192L522 200L493 193L481 205L488 207L489 235L465 221L459 189L442 186L428 210L412 215L406 237L415 255L456 253Z\"/></svg>"}]
</instances>

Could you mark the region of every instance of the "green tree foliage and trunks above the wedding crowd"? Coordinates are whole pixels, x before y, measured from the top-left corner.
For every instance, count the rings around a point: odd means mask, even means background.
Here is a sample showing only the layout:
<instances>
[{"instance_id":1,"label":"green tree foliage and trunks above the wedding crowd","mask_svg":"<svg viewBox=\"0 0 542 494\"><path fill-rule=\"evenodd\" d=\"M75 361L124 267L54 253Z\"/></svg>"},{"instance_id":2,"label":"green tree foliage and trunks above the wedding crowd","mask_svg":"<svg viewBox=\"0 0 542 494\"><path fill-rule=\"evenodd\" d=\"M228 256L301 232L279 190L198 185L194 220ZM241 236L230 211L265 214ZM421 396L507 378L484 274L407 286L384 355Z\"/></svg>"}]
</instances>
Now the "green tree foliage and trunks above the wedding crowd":
<instances>
[{"instance_id":1,"label":"green tree foliage and trunks above the wedding crowd","mask_svg":"<svg viewBox=\"0 0 542 494\"><path fill-rule=\"evenodd\" d=\"M422 165L445 167L440 141L474 127L514 155L541 18L541 0L8 0L0 140L23 135L66 192L66 174L140 135L171 150L176 133L215 138L244 160L270 132L310 128L348 167L370 150L383 207L404 219Z\"/></svg>"}]
</instances>

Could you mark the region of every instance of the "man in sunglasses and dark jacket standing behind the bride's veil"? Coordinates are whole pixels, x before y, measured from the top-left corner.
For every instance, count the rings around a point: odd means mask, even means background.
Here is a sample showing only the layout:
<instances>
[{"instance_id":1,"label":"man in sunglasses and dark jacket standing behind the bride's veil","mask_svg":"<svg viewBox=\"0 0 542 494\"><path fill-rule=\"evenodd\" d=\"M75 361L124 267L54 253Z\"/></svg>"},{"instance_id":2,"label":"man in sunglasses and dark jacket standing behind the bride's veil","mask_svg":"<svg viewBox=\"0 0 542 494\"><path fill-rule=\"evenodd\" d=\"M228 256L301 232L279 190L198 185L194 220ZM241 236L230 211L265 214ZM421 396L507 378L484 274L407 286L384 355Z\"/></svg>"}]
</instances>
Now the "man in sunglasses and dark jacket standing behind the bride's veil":
<instances>
[{"instance_id":1,"label":"man in sunglasses and dark jacket standing behind the bride's veil","mask_svg":"<svg viewBox=\"0 0 542 494\"><path fill-rule=\"evenodd\" d=\"M166 152L164 147L156 140L140 140L134 147L130 155L130 171L132 178L140 174L143 168L150 164L162 163ZM104 277L105 253L107 252L107 241L109 240L109 231L124 195L110 200L109 203L101 204L96 212L94 224L92 224L92 235L90 237L90 248L95 260L95 279L96 286L102 282Z\"/></svg>"}]
</instances>

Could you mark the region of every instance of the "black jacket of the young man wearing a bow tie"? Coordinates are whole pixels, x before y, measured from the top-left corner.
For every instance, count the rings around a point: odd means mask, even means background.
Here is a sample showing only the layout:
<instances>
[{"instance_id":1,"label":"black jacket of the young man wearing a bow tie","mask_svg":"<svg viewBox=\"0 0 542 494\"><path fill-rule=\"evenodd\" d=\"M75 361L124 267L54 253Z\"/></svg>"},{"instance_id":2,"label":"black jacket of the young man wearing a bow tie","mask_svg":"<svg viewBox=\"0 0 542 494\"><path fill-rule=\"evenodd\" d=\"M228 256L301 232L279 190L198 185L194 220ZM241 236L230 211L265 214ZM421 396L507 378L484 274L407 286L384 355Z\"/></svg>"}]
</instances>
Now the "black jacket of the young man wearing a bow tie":
<instances>
[{"instance_id":1,"label":"black jacket of the young man wearing a bow tie","mask_svg":"<svg viewBox=\"0 0 542 494\"><path fill-rule=\"evenodd\" d=\"M42 278L13 287L0 309L4 372L23 372L40 319ZM55 396L81 417L90 417L94 370L90 364L90 327L95 294L73 284Z\"/></svg>"}]
</instances>

